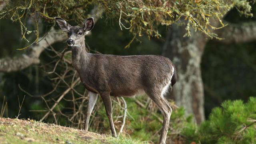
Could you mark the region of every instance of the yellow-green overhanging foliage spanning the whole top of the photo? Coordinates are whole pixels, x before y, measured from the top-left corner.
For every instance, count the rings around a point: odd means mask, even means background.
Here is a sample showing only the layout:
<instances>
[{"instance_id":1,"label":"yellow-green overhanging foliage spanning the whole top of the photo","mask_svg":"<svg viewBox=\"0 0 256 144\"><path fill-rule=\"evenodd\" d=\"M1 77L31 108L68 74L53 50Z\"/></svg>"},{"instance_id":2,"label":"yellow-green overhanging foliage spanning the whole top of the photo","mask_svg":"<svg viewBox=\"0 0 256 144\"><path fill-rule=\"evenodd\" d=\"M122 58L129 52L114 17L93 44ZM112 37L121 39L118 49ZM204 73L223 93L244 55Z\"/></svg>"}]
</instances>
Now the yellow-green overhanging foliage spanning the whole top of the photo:
<instances>
[{"instance_id":1,"label":"yellow-green overhanging foliage spanning the whole top of the photo","mask_svg":"<svg viewBox=\"0 0 256 144\"><path fill-rule=\"evenodd\" d=\"M220 18L230 9L236 8L240 14L252 16L250 13L252 8L248 0L19 0L9 2L6 8L0 11L0 19L10 18L13 22L19 22L22 39L27 42L29 41L26 35L34 32L36 35L36 40L32 42L34 44L40 41L38 39L41 34L38 28L40 19L53 25L54 16L60 16L81 23L90 16L88 15L90 10L96 6L99 14L104 13L106 18L119 21L121 29L129 29L134 35L132 41L136 36L142 36L144 33L148 37L160 37L159 25L169 26L174 22L180 22L178 21L180 19L186 20L187 32L184 36L190 36L192 27L210 38L218 38L212 32L212 29L217 29L214 21L220 22L220 28L224 27L225 24ZM34 19L34 30L29 30L26 24L28 16Z\"/></svg>"}]
</instances>

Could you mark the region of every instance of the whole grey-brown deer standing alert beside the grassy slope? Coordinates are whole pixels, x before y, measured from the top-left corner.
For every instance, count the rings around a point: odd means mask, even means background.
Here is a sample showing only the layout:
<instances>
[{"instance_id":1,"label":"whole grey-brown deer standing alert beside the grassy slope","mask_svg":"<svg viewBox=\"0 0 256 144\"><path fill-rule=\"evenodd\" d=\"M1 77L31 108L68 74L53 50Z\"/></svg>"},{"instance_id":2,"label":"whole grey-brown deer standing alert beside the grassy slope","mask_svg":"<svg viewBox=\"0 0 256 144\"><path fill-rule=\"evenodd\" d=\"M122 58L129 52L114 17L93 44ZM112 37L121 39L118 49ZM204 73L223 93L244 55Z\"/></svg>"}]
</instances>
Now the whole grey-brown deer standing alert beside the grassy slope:
<instances>
[{"instance_id":1,"label":"whole grey-brown deer standing alert beside the grassy slope","mask_svg":"<svg viewBox=\"0 0 256 144\"><path fill-rule=\"evenodd\" d=\"M67 32L67 44L72 48L72 64L82 84L90 92L84 130L88 131L90 115L98 95L104 103L112 136L116 137L110 96L133 97L145 93L162 113L159 144L165 144L172 108L164 94L177 80L172 61L159 55L119 56L86 52L85 35L94 27L94 18L85 20L83 27L70 26L62 18L54 19L58 28Z\"/></svg>"}]
</instances>

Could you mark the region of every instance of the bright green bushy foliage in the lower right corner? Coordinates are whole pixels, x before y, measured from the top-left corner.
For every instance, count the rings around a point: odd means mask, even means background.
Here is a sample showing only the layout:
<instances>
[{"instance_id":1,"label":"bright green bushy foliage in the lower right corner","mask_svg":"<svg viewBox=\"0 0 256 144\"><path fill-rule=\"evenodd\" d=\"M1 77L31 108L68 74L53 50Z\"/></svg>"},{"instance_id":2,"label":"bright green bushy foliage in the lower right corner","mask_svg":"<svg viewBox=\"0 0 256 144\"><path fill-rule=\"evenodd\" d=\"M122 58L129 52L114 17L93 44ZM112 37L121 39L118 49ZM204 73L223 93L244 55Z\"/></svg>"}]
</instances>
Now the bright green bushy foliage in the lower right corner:
<instances>
[{"instance_id":1,"label":"bright green bushy foliage in the lower right corner","mask_svg":"<svg viewBox=\"0 0 256 144\"><path fill-rule=\"evenodd\" d=\"M227 100L212 110L200 126L187 124L182 134L186 141L202 144L254 144L256 142L256 98L247 103Z\"/></svg>"}]
</instances>

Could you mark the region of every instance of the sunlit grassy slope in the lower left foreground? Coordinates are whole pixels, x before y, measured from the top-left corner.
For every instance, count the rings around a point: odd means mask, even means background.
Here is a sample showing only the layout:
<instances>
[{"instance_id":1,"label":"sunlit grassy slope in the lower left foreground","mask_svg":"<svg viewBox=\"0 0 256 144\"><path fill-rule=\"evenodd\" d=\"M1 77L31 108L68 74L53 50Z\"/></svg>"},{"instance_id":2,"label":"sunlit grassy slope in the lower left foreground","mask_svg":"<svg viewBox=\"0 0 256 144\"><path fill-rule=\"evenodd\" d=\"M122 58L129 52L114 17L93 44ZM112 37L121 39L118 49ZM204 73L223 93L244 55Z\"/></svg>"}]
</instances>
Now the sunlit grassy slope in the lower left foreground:
<instances>
[{"instance_id":1,"label":"sunlit grassy slope in the lower left foreground","mask_svg":"<svg viewBox=\"0 0 256 144\"><path fill-rule=\"evenodd\" d=\"M0 118L0 143L143 144L123 137L113 138L76 128L10 118Z\"/></svg>"}]
</instances>

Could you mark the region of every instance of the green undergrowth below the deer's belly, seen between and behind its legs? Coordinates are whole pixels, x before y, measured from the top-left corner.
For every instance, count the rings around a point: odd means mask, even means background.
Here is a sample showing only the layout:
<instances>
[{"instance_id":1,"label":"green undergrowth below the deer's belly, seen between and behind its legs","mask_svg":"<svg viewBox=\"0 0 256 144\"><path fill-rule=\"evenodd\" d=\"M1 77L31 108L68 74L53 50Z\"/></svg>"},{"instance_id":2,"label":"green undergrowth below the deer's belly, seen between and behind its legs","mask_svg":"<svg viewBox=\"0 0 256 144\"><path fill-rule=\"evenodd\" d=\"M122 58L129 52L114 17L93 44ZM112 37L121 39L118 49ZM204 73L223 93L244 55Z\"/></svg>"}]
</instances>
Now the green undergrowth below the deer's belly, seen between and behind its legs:
<instances>
[{"instance_id":1,"label":"green undergrowth below the deer's belly, seen between and behind its legs","mask_svg":"<svg viewBox=\"0 0 256 144\"><path fill-rule=\"evenodd\" d=\"M152 142L158 142L162 129L162 122L160 122L160 120L162 120L162 114L157 106L146 96L136 98L136 100L139 100L145 105L145 108L136 104L133 98L125 98L125 100L128 111L126 124L120 136L130 137L132 139L139 138L141 141L150 140ZM124 111L122 107L119 106L118 101L118 98L112 97L113 121L117 133L120 131L122 125L122 115ZM101 100L99 100L99 102L101 102ZM106 116L104 105L98 102L96 105L99 106L99 108L93 112L94 118L90 120L89 131L109 134L109 120ZM178 138L178 134L180 134L180 130L184 125L192 125L191 118L187 119L184 116L184 111L184 108L173 108L170 119L170 128L172 130L169 130L167 139L172 140L173 138Z\"/></svg>"}]
</instances>

